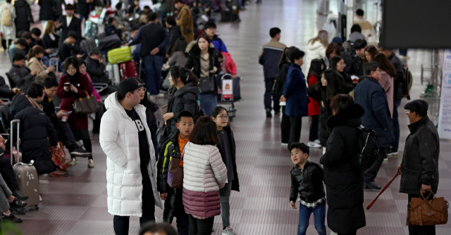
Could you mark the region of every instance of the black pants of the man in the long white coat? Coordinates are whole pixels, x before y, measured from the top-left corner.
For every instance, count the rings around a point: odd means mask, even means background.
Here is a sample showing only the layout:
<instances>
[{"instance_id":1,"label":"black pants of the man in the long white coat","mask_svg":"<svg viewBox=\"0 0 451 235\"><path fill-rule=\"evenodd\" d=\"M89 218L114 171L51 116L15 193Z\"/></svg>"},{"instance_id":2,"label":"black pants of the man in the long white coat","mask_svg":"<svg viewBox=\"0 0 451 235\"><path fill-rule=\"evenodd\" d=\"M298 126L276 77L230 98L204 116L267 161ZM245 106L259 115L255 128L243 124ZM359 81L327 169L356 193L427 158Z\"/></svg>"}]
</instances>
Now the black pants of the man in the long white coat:
<instances>
[{"instance_id":1,"label":"black pants of the man in the long white coat","mask_svg":"<svg viewBox=\"0 0 451 235\"><path fill-rule=\"evenodd\" d=\"M142 172L142 217L140 217L140 225L155 221L155 198L152 191L152 182L150 182L147 170L141 169ZM115 215L113 217L114 233L116 235L127 235L129 228L129 216Z\"/></svg>"}]
</instances>

